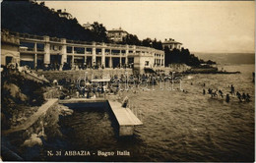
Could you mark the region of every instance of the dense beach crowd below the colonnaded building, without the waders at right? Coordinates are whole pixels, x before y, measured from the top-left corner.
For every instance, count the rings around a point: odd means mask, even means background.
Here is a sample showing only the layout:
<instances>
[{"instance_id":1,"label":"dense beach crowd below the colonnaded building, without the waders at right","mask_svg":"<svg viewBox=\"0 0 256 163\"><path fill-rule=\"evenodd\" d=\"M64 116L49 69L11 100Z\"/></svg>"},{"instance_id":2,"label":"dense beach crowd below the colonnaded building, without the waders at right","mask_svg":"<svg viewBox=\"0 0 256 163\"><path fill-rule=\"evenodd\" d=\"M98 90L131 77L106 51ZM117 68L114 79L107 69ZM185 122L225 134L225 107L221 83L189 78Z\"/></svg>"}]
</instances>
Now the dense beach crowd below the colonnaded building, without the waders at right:
<instances>
[{"instance_id":1,"label":"dense beach crowd below the colonnaded building, without the waders at right","mask_svg":"<svg viewBox=\"0 0 256 163\"><path fill-rule=\"evenodd\" d=\"M78 98L96 98L102 97L105 93L117 94L118 91L138 88L143 84L155 85L161 81L178 82L180 75L164 75L161 72L156 74L143 74L143 75L129 75L123 74L121 76L109 76L109 81L96 82L92 80L85 79L80 81L78 86L78 81L71 79L62 79L59 81L54 80L54 84L59 84L63 86L63 95L61 98L67 98L75 96ZM94 77L94 79L102 79L102 77Z\"/></svg>"}]
</instances>

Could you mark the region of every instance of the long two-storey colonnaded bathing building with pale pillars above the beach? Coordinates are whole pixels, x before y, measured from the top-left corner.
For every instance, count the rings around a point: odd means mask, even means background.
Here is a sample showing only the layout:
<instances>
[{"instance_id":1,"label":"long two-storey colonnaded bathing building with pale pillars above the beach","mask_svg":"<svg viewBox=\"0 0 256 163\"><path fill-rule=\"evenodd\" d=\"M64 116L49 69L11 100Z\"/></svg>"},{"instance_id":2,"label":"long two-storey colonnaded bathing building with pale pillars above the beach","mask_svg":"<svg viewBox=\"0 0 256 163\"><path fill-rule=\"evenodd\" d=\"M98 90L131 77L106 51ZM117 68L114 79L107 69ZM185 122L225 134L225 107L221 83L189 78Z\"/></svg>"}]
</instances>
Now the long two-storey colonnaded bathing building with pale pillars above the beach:
<instances>
[{"instance_id":1,"label":"long two-storey colonnaded bathing building with pale pillars above the beach","mask_svg":"<svg viewBox=\"0 0 256 163\"><path fill-rule=\"evenodd\" d=\"M31 69L164 67L164 52L135 45L85 42L1 30L1 65L17 63Z\"/></svg>"}]
</instances>

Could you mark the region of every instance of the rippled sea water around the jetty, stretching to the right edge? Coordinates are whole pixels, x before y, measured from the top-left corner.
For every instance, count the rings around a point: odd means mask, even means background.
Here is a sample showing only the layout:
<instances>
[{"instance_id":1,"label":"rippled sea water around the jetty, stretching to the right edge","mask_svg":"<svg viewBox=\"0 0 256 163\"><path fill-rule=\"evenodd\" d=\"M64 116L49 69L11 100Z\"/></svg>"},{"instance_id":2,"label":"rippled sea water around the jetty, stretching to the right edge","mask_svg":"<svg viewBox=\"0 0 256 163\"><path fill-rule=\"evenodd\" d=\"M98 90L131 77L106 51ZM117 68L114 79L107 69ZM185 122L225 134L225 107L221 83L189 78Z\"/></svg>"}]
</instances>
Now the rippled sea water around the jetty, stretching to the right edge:
<instances>
[{"instance_id":1,"label":"rippled sea water around the jetty, stretching to the right edge","mask_svg":"<svg viewBox=\"0 0 256 163\"><path fill-rule=\"evenodd\" d=\"M142 120L134 136L117 136L116 123L107 107L74 109L72 116L59 122L63 137L51 142L51 149L62 156L42 160L61 161L254 161L254 104L252 82L254 65L224 66L230 75L189 75L176 90L160 85L155 90L124 91L132 110ZM205 83L205 86L204 86ZM239 102L230 95L203 95L203 89L222 89L229 93L249 93L250 102ZM230 93L229 93L230 94ZM90 155L64 155L65 151L90 152ZM117 151L126 155L117 155ZM98 154L98 152L105 152ZM111 152L114 152L111 154ZM127 154L129 152L129 155Z\"/></svg>"}]
</instances>

